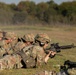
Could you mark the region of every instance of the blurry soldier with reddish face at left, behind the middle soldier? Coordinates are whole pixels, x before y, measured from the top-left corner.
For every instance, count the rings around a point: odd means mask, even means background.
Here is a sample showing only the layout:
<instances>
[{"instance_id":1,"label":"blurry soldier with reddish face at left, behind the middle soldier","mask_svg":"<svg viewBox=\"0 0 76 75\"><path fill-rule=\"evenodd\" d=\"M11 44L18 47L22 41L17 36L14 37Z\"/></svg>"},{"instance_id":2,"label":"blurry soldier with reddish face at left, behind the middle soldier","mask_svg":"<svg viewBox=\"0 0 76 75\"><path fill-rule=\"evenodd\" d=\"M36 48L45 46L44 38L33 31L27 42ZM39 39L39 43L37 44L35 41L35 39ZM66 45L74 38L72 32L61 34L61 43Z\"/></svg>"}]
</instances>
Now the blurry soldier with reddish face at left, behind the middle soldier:
<instances>
[{"instance_id":1,"label":"blurry soldier with reddish face at left, behind the middle soldier","mask_svg":"<svg viewBox=\"0 0 76 75\"><path fill-rule=\"evenodd\" d=\"M17 36L13 32L6 32L3 39L0 41L1 43L1 54L2 56L8 54L9 51L12 52L12 47L17 43Z\"/></svg>"}]
</instances>

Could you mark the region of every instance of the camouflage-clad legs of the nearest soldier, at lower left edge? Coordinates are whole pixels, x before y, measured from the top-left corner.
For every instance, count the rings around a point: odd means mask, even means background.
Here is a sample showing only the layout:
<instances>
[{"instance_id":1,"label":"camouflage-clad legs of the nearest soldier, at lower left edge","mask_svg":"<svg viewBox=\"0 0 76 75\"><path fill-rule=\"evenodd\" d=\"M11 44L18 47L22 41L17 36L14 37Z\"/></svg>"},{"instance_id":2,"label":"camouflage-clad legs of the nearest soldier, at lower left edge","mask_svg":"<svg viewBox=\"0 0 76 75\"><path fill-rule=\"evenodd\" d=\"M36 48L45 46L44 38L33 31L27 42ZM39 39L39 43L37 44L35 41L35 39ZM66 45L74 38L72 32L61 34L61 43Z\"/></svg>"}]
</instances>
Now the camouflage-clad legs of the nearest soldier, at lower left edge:
<instances>
[{"instance_id":1,"label":"camouflage-clad legs of the nearest soldier, at lower left edge","mask_svg":"<svg viewBox=\"0 0 76 75\"><path fill-rule=\"evenodd\" d=\"M6 55L2 59L0 59L0 69L21 68L21 60L22 58L18 53Z\"/></svg>"}]
</instances>

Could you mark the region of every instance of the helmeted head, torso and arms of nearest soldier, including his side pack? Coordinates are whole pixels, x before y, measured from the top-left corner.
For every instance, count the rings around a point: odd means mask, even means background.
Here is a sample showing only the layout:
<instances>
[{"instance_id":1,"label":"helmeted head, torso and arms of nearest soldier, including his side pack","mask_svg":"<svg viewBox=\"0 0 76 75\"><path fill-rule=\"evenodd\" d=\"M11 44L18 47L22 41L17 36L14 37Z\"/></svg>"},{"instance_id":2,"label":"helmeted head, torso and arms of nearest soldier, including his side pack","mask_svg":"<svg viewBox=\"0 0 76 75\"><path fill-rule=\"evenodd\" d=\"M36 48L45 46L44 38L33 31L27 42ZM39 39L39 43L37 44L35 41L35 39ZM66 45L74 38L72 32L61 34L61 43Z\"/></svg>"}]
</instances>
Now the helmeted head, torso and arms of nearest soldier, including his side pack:
<instances>
[{"instance_id":1,"label":"helmeted head, torso and arms of nearest soldier, including his side pack","mask_svg":"<svg viewBox=\"0 0 76 75\"><path fill-rule=\"evenodd\" d=\"M35 45L28 50L21 50L19 55L22 57L26 68L38 67L42 63L47 63L49 55L54 55L52 51L48 54L45 53L44 49L50 43L50 38L45 33L40 33L35 36Z\"/></svg>"}]
</instances>

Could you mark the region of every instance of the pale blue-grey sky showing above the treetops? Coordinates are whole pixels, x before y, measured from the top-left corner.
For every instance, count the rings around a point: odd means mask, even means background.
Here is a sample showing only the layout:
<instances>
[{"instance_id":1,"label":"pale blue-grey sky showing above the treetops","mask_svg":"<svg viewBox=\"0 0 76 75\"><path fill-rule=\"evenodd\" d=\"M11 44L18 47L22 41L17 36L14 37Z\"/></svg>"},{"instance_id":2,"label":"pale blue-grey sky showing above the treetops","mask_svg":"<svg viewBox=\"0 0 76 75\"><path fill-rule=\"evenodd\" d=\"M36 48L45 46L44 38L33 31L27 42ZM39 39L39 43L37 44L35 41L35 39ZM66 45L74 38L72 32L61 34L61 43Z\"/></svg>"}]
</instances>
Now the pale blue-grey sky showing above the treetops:
<instances>
[{"instance_id":1,"label":"pale blue-grey sky showing above the treetops","mask_svg":"<svg viewBox=\"0 0 76 75\"><path fill-rule=\"evenodd\" d=\"M0 0L0 2L5 2L7 4L11 4L11 3L18 4L20 1L22 1L22 0ZM26 0L23 0L23 1L26 1ZM39 3L39 2L47 2L50 0L30 0L30 1L34 1L36 3ZM54 2L57 4L60 4L62 2L66 2L66 1L73 1L73 0L54 0Z\"/></svg>"}]
</instances>

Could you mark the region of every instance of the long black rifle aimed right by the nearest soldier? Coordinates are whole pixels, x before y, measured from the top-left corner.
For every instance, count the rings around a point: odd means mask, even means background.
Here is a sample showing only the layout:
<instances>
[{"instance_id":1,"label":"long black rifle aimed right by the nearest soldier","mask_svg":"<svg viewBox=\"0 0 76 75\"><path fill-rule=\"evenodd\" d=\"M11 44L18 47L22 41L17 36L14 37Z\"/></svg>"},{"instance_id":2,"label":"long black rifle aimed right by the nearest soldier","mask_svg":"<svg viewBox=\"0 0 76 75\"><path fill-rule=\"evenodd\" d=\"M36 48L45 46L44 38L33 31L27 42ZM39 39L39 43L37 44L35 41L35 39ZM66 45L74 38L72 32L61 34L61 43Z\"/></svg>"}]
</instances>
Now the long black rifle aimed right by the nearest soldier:
<instances>
[{"instance_id":1,"label":"long black rifle aimed right by the nearest soldier","mask_svg":"<svg viewBox=\"0 0 76 75\"><path fill-rule=\"evenodd\" d=\"M75 48L75 47L76 46L74 46L74 44L60 46L59 43L53 43L53 44L50 44L50 48L45 49L45 52L47 54L49 53L49 51L54 51L56 53L59 53L59 52L61 52L61 50L71 49L71 48ZM56 55L60 55L60 54L56 54ZM50 55L50 57L53 58L54 56Z\"/></svg>"}]
</instances>

